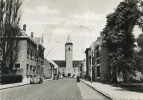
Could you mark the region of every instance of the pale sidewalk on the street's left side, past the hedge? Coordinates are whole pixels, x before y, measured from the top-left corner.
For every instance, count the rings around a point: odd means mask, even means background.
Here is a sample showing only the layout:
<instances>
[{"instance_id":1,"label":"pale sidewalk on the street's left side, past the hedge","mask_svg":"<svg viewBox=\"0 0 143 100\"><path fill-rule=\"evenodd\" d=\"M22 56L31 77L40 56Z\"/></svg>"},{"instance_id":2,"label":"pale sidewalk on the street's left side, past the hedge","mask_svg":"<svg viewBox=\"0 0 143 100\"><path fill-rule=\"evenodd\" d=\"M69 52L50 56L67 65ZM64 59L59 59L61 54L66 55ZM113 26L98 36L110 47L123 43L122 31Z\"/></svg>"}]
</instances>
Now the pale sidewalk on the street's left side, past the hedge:
<instances>
[{"instance_id":1,"label":"pale sidewalk on the street's left side, past the hedge","mask_svg":"<svg viewBox=\"0 0 143 100\"><path fill-rule=\"evenodd\" d=\"M52 79L45 79L43 82L49 81ZM12 83L12 84L0 84L0 90L7 89L7 88L14 88L14 87L19 87L19 86L24 86L24 85L29 85L30 81L24 81L20 83Z\"/></svg>"}]
</instances>

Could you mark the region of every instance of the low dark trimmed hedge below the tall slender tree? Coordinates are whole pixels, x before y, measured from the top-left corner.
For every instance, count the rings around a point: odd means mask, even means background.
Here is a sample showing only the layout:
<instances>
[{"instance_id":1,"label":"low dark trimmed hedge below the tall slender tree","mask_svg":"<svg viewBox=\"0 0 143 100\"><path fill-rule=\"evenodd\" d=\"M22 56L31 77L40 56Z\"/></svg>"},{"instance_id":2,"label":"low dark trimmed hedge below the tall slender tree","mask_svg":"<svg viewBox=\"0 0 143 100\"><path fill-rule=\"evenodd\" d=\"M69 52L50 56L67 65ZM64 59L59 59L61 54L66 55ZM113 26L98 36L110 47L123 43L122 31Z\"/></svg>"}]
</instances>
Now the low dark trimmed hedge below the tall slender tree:
<instances>
[{"instance_id":1,"label":"low dark trimmed hedge below the tall slender tree","mask_svg":"<svg viewBox=\"0 0 143 100\"><path fill-rule=\"evenodd\" d=\"M2 74L1 77L1 84L10 84L10 83L18 83L22 82L22 75L9 75L9 74Z\"/></svg>"}]
</instances>

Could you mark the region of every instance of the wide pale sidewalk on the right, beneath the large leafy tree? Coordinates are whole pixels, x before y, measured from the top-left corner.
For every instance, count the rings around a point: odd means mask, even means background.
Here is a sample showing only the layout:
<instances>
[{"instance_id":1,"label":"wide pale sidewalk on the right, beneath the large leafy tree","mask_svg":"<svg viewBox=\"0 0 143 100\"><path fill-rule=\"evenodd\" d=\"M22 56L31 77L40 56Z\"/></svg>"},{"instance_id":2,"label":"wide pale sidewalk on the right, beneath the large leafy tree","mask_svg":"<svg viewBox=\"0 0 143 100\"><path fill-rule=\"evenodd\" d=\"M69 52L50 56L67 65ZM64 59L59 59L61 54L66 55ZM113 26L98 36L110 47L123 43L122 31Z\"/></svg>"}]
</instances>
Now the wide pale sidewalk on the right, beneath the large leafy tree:
<instances>
[{"instance_id":1,"label":"wide pale sidewalk on the right, beneath the large leafy tree","mask_svg":"<svg viewBox=\"0 0 143 100\"><path fill-rule=\"evenodd\" d=\"M120 87L114 87L100 82L91 83L82 79L81 81L113 100L143 100L143 93L128 91Z\"/></svg>"}]
</instances>

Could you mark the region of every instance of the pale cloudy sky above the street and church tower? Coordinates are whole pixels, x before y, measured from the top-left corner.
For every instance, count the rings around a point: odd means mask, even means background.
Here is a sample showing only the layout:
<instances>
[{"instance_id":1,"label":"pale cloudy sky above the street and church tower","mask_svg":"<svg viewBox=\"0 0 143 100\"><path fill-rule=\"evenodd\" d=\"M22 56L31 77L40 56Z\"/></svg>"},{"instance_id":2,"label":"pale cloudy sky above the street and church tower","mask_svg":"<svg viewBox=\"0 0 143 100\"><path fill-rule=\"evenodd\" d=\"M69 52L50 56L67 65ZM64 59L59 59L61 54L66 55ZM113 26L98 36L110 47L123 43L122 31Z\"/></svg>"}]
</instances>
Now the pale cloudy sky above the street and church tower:
<instances>
[{"instance_id":1,"label":"pale cloudy sky above the street and church tower","mask_svg":"<svg viewBox=\"0 0 143 100\"><path fill-rule=\"evenodd\" d=\"M96 41L106 25L106 16L123 0L22 0L21 28L44 39L46 59L64 60L68 35L73 59L83 60L85 49ZM135 27L137 37L141 31Z\"/></svg>"}]
</instances>

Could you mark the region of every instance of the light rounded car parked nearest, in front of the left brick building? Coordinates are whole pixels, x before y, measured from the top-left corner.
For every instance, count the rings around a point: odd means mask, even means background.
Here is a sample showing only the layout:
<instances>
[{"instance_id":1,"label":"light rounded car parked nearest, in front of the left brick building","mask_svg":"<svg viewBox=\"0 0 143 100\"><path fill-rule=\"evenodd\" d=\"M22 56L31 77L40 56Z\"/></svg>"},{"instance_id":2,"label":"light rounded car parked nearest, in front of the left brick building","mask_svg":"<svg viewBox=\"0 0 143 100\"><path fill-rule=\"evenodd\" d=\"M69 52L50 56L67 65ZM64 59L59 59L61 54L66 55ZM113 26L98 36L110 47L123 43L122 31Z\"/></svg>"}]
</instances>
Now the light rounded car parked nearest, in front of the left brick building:
<instances>
[{"instance_id":1,"label":"light rounded car parked nearest, in front of the left brick building","mask_svg":"<svg viewBox=\"0 0 143 100\"><path fill-rule=\"evenodd\" d=\"M43 78L39 74L31 76L30 84L42 84L42 83L43 83Z\"/></svg>"}]
</instances>

